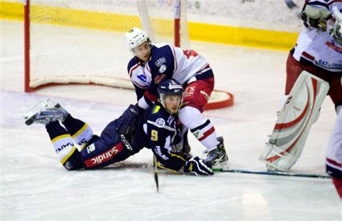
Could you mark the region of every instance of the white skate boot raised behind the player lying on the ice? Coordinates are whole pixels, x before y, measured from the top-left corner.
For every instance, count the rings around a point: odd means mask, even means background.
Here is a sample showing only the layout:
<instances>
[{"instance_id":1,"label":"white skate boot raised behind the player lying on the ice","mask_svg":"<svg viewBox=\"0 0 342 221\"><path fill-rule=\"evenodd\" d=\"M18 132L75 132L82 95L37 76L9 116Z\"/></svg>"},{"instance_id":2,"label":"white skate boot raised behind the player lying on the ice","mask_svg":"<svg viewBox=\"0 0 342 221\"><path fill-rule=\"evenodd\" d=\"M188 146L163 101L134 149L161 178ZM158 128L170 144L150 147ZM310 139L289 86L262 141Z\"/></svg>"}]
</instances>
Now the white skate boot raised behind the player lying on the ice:
<instances>
[{"instance_id":1,"label":"white skate boot raised behind the player lying on the ice","mask_svg":"<svg viewBox=\"0 0 342 221\"><path fill-rule=\"evenodd\" d=\"M51 99L41 101L24 114L25 124L33 123L47 125L55 120L64 121L68 112L59 104Z\"/></svg>"}]
</instances>

